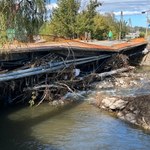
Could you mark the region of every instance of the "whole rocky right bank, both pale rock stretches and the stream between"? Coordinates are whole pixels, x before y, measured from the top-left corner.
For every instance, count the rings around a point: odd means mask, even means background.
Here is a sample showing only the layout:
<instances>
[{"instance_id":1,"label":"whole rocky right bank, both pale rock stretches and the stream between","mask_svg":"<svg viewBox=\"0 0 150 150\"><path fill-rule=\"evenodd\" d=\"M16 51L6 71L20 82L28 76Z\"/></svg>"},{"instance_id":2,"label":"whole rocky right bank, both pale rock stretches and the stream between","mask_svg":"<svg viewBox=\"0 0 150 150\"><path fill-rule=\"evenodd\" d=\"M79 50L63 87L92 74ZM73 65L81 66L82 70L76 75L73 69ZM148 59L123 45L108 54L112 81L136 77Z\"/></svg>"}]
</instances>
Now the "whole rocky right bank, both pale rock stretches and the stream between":
<instances>
[{"instance_id":1,"label":"whole rocky right bank, both pale rock stretches and the stream between","mask_svg":"<svg viewBox=\"0 0 150 150\"><path fill-rule=\"evenodd\" d=\"M90 102L124 121L150 130L149 82L147 73L123 73L113 82L107 79L98 83Z\"/></svg>"}]
</instances>

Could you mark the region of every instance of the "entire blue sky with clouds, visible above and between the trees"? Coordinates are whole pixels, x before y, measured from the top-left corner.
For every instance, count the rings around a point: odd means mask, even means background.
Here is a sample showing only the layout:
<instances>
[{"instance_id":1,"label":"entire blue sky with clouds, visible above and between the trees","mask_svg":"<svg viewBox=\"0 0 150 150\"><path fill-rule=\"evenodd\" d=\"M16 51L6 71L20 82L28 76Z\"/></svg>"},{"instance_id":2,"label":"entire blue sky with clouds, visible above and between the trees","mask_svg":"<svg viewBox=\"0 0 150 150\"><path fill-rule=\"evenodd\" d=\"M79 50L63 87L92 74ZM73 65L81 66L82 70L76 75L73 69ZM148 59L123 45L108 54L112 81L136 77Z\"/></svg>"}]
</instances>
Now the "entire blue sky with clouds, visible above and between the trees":
<instances>
[{"instance_id":1,"label":"entire blue sky with clouds, visible above and between the trees","mask_svg":"<svg viewBox=\"0 0 150 150\"><path fill-rule=\"evenodd\" d=\"M89 0L81 0L82 7L86 6ZM121 11L123 19L130 21L132 26L147 26L147 15L150 18L150 0L98 0L102 6L98 8L100 13L114 13L120 19ZM49 8L56 7L57 0L50 0ZM142 12L146 12L142 14Z\"/></svg>"}]
</instances>

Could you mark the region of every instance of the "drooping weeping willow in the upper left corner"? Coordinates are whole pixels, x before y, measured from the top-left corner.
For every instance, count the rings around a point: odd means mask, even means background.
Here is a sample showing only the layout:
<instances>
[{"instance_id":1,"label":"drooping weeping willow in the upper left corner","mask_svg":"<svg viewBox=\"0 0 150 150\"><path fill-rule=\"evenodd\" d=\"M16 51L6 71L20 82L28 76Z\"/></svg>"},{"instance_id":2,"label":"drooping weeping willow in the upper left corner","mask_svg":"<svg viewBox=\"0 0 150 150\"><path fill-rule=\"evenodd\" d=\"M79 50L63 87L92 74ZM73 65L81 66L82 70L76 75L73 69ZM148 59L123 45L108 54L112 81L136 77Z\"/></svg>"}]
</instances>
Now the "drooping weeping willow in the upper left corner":
<instances>
[{"instance_id":1,"label":"drooping weeping willow in the upper left corner","mask_svg":"<svg viewBox=\"0 0 150 150\"><path fill-rule=\"evenodd\" d=\"M17 38L26 34L32 40L44 22L45 14L43 0L1 0L0 29L15 29Z\"/></svg>"}]
</instances>

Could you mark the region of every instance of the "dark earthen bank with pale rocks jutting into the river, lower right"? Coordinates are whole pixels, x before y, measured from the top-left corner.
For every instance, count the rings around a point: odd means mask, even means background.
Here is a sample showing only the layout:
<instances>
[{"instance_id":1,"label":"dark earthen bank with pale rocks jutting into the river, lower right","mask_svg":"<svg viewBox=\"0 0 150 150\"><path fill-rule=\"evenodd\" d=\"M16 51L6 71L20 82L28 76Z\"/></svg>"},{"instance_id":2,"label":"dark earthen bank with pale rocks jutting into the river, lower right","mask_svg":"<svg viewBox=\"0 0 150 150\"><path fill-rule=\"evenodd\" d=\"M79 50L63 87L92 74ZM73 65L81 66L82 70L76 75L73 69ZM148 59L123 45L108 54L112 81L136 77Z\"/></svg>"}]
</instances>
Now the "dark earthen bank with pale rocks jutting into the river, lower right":
<instances>
[{"instance_id":1,"label":"dark earthen bank with pale rocks jutting into the river, lower right","mask_svg":"<svg viewBox=\"0 0 150 150\"><path fill-rule=\"evenodd\" d=\"M98 97L96 105L127 122L150 129L150 95L136 97Z\"/></svg>"}]
</instances>

